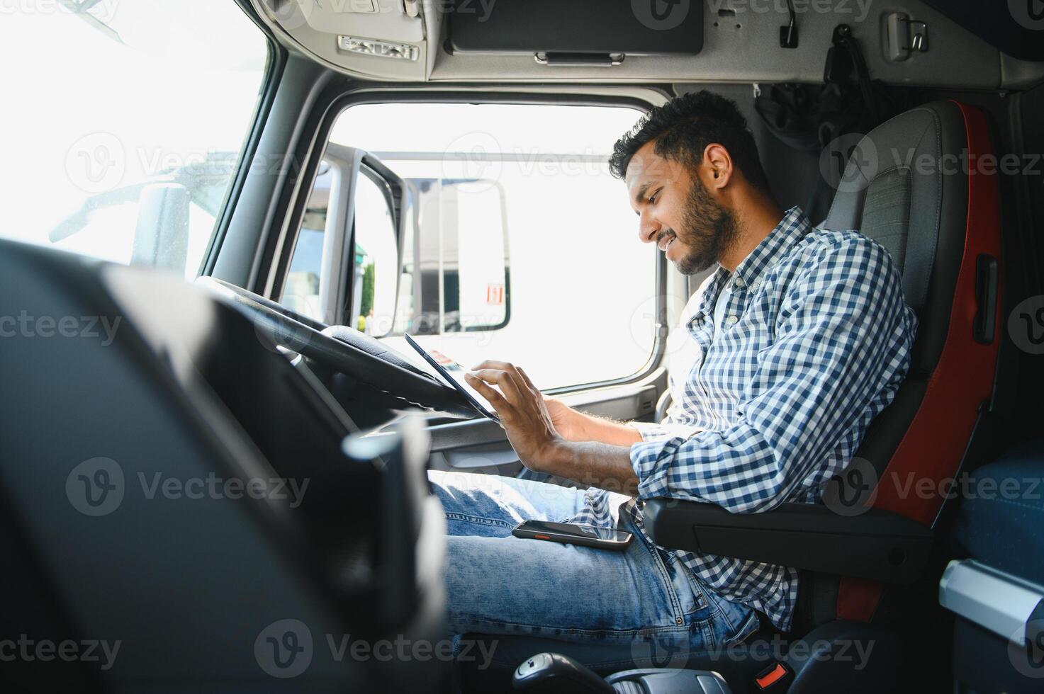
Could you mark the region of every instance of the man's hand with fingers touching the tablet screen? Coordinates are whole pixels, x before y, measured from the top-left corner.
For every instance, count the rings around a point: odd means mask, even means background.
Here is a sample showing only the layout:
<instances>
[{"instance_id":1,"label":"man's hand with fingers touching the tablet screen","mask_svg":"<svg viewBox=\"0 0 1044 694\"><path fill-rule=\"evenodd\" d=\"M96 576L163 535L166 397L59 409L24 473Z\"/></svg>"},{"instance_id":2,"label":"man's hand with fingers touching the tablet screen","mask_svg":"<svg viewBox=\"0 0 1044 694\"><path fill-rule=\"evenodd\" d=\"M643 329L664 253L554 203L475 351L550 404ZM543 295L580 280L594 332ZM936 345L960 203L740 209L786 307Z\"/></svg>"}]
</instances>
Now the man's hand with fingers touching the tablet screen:
<instances>
[{"instance_id":1,"label":"man's hand with fingers touching the tablet screen","mask_svg":"<svg viewBox=\"0 0 1044 694\"><path fill-rule=\"evenodd\" d=\"M496 410L522 464L533 472L551 469L555 457L561 457L565 436L555 428L548 403L526 373L507 362L483 361L471 374L465 374L465 380ZM564 423L569 416L566 411L572 410L552 402L559 421Z\"/></svg>"}]
</instances>

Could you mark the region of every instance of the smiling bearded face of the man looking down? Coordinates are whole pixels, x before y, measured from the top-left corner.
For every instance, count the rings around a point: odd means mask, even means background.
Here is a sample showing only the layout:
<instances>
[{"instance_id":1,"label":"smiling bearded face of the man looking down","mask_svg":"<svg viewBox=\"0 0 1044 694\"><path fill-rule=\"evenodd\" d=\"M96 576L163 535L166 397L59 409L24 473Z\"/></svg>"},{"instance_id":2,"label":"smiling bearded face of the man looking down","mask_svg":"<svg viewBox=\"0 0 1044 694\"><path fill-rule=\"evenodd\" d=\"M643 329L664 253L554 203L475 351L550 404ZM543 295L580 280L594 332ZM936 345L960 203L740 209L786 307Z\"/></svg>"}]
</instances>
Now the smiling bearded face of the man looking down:
<instances>
[{"instance_id":1,"label":"smiling bearded face of the man looking down","mask_svg":"<svg viewBox=\"0 0 1044 694\"><path fill-rule=\"evenodd\" d=\"M716 263L735 241L736 218L696 171L660 157L654 146L655 141L635 152L623 178L638 215L638 237L656 243L683 274L695 274Z\"/></svg>"}]
</instances>

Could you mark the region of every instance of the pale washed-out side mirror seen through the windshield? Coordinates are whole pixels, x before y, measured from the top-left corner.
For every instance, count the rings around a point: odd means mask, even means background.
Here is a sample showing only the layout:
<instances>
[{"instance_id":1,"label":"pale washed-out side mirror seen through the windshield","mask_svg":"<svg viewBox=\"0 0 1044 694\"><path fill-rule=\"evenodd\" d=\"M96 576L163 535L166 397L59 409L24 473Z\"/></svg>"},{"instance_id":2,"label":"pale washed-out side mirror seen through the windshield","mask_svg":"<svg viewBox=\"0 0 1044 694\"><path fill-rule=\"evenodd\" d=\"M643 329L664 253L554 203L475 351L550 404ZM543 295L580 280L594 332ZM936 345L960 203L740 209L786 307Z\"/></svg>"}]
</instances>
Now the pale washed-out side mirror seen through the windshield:
<instances>
[{"instance_id":1,"label":"pale washed-out side mirror seen through the windshield","mask_svg":"<svg viewBox=\"0 0 1044 694\"><path fill-rule=\"evenodd\" d=\"M185 271L189 250L189 190L176 183L148 184L138 197L132 265Z\"/></svg>"}]
</instances>

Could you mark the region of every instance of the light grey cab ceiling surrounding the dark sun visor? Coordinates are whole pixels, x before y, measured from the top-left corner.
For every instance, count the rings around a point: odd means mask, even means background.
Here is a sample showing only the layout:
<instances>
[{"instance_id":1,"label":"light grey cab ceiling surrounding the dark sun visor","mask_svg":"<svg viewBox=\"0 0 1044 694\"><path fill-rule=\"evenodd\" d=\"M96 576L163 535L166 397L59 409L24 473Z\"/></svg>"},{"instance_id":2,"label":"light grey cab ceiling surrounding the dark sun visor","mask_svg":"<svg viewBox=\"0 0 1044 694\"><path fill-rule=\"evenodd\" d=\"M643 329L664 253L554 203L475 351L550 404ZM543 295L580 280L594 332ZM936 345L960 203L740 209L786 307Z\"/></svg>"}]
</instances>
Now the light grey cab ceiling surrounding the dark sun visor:
<instances>
[{"instance_id":1,"label":"light grey cab ceiling surrounding the dark sun visor","mask_svg":"<svg viewBox=\"0 0 1044 694\"><path fill-rule=\"evenodd\" d=\"M497 0L455 1L470 2L472 11L496 11ZM613 67L547 66L531 54L448 52L446 20L454 0L251 2L290 49L352 77L377 81L818 82L834 27L841 23L852 27L871 76L886 83L996 90L1023 89L1044 78L1044 63L1007 56L919 0L796 0L797 48L780 46L786 0L703 0L698 54L628 55ZM888 17L897 13L927 27L927 50L910 51L903 61L889 57ZM416 57L348 52L340 37L411 47Z\"/></svg>"}]
</instances>

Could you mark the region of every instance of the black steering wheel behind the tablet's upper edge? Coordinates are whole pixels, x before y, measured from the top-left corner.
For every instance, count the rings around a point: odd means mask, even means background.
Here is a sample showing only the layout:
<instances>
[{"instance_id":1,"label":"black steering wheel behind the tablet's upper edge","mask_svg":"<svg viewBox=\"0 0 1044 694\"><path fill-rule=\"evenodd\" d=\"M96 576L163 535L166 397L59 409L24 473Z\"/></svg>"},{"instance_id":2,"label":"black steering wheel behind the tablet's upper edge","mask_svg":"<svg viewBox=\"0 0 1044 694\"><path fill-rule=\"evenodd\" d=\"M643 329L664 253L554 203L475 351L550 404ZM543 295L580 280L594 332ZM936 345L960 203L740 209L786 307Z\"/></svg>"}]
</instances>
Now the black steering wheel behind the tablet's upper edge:
<instances>
[{"instance_id":1,"label":"black steering wheel behind the tablet's upper edge","mask_svg":"<svg viewBox=\"0 0 1044 694\"><path fill-rule=\"evenodd\" d=\"M327 326L236 285L210 277L196 284L232 303L280 346L404 401L404 405L474 417L475 409L454 388L417 368L405 357L348 326Z\"/></svg>"}]
</instances>

